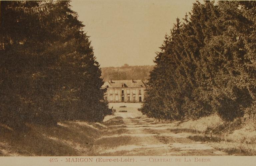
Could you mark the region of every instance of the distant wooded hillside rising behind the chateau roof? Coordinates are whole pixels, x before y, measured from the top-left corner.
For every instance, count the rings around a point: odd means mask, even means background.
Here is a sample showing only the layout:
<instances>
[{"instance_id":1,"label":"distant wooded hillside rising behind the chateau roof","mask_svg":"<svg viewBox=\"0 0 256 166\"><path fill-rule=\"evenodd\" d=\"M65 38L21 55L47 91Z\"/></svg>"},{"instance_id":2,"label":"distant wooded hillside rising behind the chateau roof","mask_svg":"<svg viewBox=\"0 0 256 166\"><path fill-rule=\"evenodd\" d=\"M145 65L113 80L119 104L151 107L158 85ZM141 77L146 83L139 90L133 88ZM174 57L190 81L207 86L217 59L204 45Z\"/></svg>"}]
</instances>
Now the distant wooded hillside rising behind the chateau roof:
<instances>
[{"instance_id":1,"label":"distant wooded hillside rising behind the chateau roof","mask_svg":"<svg viewBox=\"0 0 256 166\"><path fill-rule=\"evenodd\" d=\"M149 72L153 70L154 65L129 66L124 64L121 67L103 67L101 78L106 80L143 80L149 78Z\"/></svg>"}]
</instances>

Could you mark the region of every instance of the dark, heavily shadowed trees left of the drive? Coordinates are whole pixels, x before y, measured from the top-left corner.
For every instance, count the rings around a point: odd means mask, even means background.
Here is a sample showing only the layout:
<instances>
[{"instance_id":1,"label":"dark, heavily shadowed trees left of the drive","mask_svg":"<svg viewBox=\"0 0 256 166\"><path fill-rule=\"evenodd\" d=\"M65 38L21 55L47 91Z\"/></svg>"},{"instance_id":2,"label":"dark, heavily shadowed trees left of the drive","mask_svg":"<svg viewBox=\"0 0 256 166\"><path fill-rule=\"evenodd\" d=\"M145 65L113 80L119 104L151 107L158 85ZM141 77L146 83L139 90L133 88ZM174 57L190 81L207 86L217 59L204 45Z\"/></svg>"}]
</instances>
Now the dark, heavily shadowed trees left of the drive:
<instances>
[{"instance_id":1,"label":"dark, heavily shadowed trees left of the drive","mask_svg":"<svg viewBox=\"0 0 256 166\"><path fill-rule=\"evenodd\" d=\"M102 121L101 70L70 1L0 2L0 123Z\"/></svg>"}]
</instances>

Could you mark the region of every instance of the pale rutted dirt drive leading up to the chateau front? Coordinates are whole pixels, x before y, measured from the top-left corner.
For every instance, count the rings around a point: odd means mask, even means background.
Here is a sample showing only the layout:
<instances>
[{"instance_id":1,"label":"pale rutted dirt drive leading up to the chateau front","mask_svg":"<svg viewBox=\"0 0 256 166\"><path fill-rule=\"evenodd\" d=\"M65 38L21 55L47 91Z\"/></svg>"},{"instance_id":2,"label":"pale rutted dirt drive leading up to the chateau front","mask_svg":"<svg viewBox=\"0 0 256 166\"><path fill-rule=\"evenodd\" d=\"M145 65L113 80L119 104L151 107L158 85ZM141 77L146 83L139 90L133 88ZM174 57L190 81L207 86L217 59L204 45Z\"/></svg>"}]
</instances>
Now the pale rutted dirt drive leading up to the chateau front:
<instances>
[{"instance_id":1,"label":"pale rutted dirt drive leading up to the chateau front","mask_svg":"<svg viewBox=\"0 0 256 166\"><path fill-rule=\"evenodd\" d=\"M120 108L122 105L127 107ZM190 140L190 133L175 132L174 124L143 116L137 111L139 104L110 103L112 106L116 114L106 117L106 134L94 142L92 155L225 155L207 143Z\"/></svg>"}]
</instances>

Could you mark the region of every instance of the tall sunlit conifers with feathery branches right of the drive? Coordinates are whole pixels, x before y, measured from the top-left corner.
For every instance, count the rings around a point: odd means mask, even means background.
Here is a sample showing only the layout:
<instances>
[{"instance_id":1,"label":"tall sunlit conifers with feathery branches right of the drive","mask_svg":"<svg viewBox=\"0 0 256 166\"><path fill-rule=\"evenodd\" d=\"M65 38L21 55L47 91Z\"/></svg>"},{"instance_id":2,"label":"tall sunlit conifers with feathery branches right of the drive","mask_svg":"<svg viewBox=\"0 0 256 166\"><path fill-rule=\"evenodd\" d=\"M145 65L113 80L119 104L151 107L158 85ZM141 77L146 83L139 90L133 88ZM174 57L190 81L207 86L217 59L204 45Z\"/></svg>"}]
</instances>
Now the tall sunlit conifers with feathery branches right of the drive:
<instances>
[{"instance_id":1,"label":"tall sunlit conifers with feathery branches right of the drive","mask_svg":"<svg viewBox=\"0 0 256 166\"><path fill-rule=\"evenodd\" d=\"M256 2L198 1L165 36L150 73L143 114L255 118ZM255 120L255 119L254 119Z\"/></svg>"}]
</instances>

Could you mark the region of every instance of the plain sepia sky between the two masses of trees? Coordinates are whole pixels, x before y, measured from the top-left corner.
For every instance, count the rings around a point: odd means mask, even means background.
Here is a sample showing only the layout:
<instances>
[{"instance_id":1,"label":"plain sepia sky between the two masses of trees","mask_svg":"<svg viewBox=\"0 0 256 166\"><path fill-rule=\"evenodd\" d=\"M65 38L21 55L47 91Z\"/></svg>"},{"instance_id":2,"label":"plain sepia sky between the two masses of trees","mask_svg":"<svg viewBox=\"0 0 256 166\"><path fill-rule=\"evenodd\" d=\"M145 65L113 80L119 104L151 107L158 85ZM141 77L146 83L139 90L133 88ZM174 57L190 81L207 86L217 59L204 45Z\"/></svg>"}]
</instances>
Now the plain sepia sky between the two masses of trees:
<instances>
[{"instance_id":1,"label":"plain sepia sky between the two masses of trees","mask_svg":"<svg viewBox=\"0 0 256 166\"><path fill-rule=\"evenodd\" d=\"M101 67L153 65L165 34L195 0L74 0ZM202 1L200 1L202 3Z\"/></svg>"}]
</instances>

